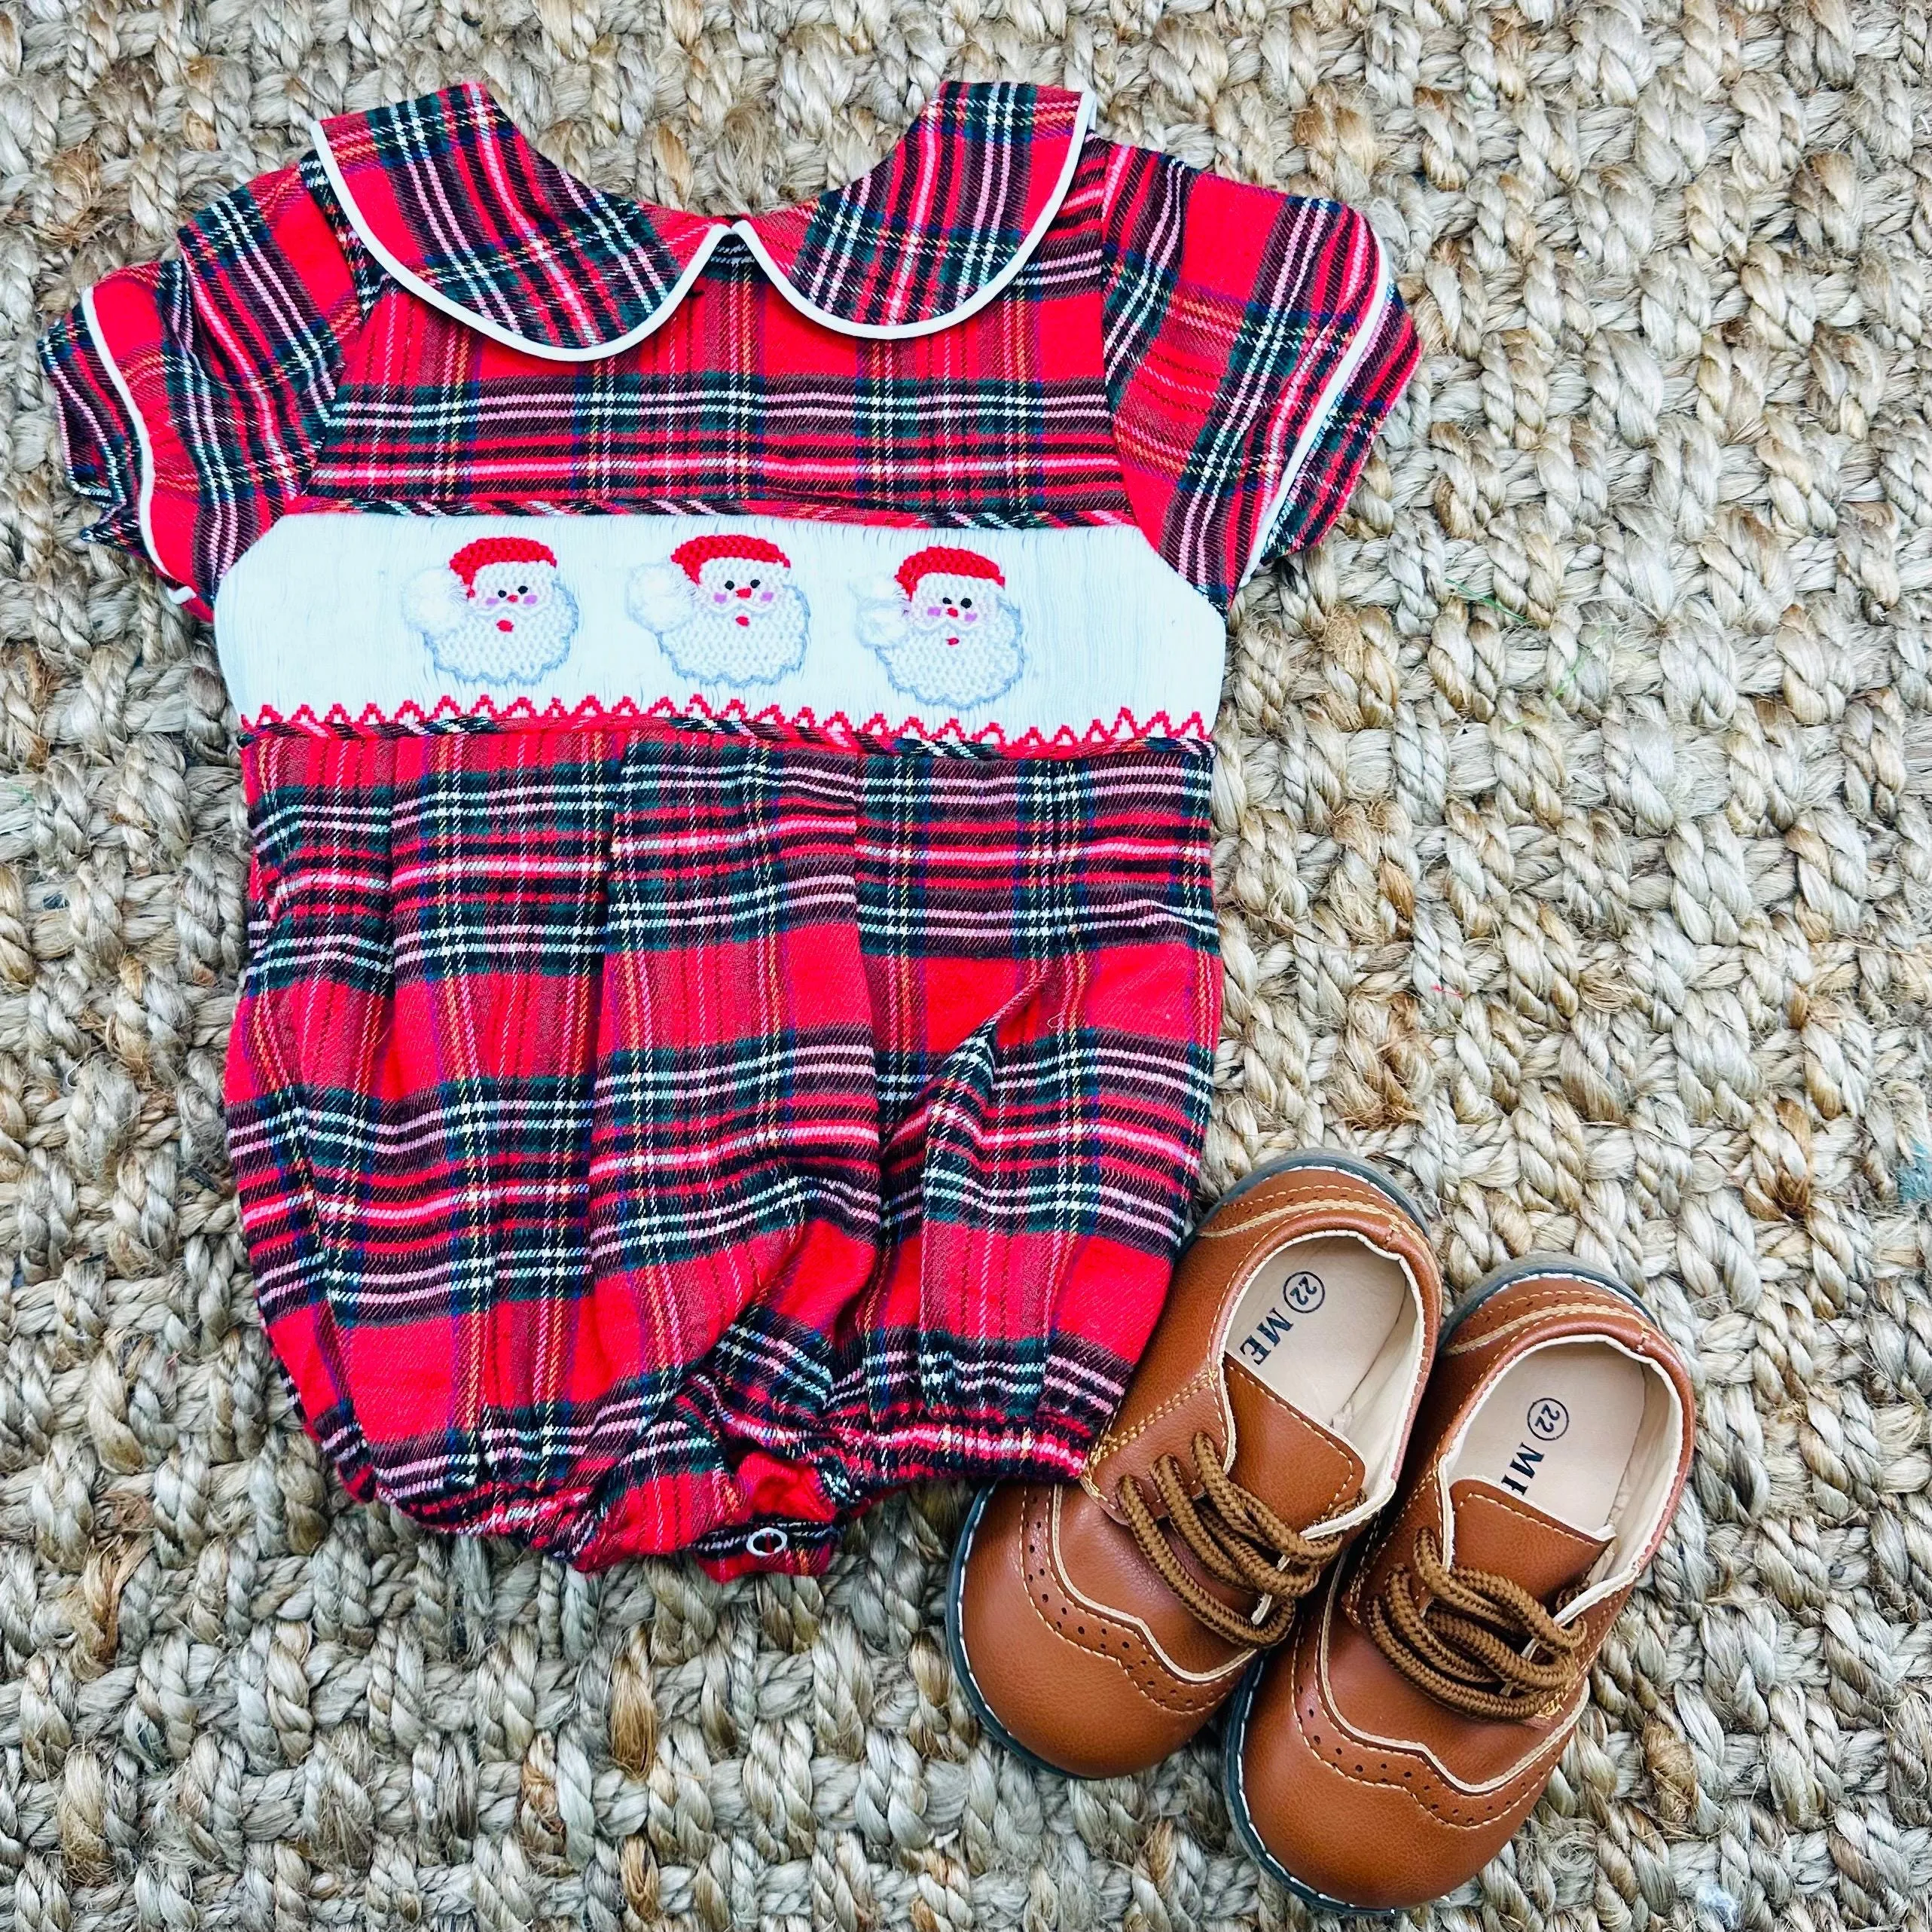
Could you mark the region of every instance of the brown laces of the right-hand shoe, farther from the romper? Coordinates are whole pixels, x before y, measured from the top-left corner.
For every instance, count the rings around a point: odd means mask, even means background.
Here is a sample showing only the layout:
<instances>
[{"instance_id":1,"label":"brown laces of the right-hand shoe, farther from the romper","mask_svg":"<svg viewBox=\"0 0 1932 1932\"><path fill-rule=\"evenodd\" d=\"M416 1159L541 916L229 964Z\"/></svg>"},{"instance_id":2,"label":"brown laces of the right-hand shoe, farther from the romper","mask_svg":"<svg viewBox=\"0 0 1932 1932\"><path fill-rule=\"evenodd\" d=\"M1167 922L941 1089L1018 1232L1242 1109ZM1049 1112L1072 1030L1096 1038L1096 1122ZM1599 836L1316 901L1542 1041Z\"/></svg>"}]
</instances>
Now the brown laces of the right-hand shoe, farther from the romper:
<instances>
[{"instance_id":1,"label":"brown laces of the right-hand shoe, farther from the romper","mask_svg":"<svg viewBox=\"0 0 1932 1932\"><path fill-rule=\"evenodd\" d=\"M1416 1530L1412 1561L1389 1573L1362 1623L1418 1690L1470 1718L1538 1718L1582 1675L1580 1625L1557 1623L1509 1577L1443 1563L1430 1528Z\"/></svg>"}]
</instances>

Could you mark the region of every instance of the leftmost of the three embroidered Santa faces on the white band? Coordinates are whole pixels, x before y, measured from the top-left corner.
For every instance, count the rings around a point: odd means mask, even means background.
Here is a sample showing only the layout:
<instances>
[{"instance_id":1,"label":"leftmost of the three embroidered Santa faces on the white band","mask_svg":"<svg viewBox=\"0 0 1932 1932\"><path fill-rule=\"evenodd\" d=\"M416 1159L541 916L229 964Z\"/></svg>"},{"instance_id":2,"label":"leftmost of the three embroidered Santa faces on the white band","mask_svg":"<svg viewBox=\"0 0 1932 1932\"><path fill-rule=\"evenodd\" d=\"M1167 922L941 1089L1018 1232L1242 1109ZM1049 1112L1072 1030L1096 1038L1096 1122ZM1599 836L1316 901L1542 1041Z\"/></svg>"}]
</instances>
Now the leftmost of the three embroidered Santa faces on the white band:
<instances>
[{"instance_id":1,"label":"leftmost of the three embroidered Santa faces on the white band","mask_svg":"<svg viewBox=\"0 0 1932 1932\"><path fill-rule=\"evenodd\" d=\"M468 684L531 684L570 655L578 607L556 556L529 537L477 537L410 580L410 622L439 670Z\"/></svg>"}]
</instances>

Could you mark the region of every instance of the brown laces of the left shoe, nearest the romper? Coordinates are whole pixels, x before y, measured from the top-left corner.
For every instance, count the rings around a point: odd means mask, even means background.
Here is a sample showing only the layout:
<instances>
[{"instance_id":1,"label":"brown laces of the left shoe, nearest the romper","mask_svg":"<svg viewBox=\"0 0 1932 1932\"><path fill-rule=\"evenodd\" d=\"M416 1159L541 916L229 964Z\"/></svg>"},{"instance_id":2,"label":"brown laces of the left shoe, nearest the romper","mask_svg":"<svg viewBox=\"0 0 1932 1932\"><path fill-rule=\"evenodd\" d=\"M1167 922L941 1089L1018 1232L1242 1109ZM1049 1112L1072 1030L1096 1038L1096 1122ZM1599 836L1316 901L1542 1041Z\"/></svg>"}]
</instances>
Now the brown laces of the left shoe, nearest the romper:
<instances>
[{"instance_id":1,"label":"brown laces of the left shoe, nearest the romper","mask_svg":"<svg viewBox=\"0 0 1932 1932\"><path fill-rule=\"evenodd\" d=\"M1302 1536L1283 1522L1252 1490L1221 1468L1215 1439L1198 1430L1194 1468L1177 1455L1163 1455L1151 1468L1153 1488L1167 1505L1167 1520L1209 1577L1252 1590L1246 1613L1221 1602L1188 1571L1142 1492L1140 1478L1122 1476L1117 1492L1121 1515L1142 1555L1161 1580L1215 1636L1242 1648L1279 1644L1294 1621L1294 1605L1316 1586L1341 1548L1339 1536ZM1202 1492L1202 1507L1194 1492ZM1256 1611L1267 1613L1256 1621Z\"/></svg>"}]
</instances>

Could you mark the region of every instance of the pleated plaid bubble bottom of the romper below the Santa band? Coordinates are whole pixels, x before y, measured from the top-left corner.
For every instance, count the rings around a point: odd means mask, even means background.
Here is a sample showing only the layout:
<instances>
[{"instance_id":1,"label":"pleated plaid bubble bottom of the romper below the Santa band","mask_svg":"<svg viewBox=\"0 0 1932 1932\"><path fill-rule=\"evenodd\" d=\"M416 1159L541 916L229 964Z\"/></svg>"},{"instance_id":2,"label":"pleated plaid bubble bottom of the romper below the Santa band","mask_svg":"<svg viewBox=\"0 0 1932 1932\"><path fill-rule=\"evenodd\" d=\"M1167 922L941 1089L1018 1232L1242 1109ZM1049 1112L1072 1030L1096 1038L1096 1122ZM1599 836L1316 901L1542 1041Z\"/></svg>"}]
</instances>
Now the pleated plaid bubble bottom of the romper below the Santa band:
<instances>
[{"instance_id":1,"label":"pleated plaid bubble bottom of the romper below the Santa band","mask_svg":"<svg viewBox=\"0 0 1932 1932\"><path fill-rule=\"evenodd\" d=\"M257 738L228 1132L350 1488L580 1563L753 1519L811 1561L916 1476L1072 1474L1206 1130L1208 775Z\"/></svg>"}]
</instances>

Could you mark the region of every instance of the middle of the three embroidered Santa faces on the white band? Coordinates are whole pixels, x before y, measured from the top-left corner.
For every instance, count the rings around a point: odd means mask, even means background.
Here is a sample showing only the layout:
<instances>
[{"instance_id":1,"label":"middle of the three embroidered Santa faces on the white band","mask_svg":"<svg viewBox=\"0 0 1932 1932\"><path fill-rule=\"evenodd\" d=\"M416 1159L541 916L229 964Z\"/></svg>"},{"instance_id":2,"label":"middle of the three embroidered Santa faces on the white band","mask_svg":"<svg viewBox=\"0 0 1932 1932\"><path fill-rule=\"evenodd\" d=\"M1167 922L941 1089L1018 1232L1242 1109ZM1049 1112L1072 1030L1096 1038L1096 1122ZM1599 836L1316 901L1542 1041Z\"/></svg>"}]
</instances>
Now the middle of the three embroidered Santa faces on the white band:
<instances>
[{"instance_id":1,"label":"middle of the three embroidered Santa faces on the white band","mask_svg":"<svg viewBox=\"0 0 1932 1932\"><path fill-rule=\"evenodd\" d=\"M686 678L771 684L806 659L811 611L763 537L692 537L634 570L624 605Z\"/></svg>"}]
</instances>

